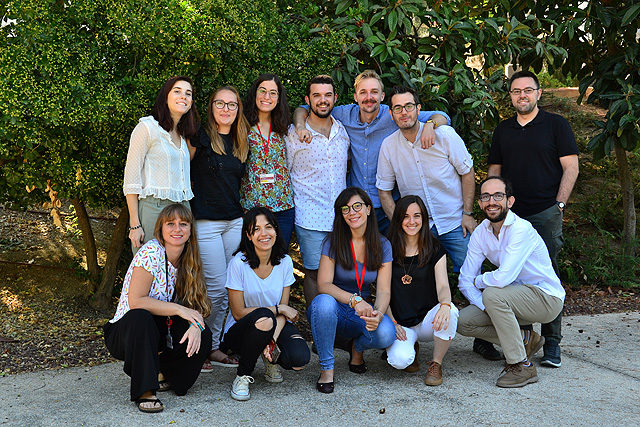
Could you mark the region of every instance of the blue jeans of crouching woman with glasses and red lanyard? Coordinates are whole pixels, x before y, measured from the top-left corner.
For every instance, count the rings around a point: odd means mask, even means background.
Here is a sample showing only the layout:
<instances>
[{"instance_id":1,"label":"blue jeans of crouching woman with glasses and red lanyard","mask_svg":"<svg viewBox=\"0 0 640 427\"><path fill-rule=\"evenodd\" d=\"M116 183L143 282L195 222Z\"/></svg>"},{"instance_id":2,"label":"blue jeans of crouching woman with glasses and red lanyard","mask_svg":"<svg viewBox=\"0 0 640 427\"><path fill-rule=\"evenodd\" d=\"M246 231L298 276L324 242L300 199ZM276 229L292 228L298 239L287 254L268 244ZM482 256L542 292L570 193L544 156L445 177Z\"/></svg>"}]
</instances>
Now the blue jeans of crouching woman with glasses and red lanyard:
<instances>
[{"instance_id":1,"label":"blue jeans of crouching woman with glasses and red lanyard","mask_svg":"<svg viewBox=\"0 0 640 427\"><path fill-rule=\"evenodd\" d=\"M396 339L396 327L386 314L378 329L367 331L364 320L353 308L327 294L320 294L313 299L307 310L307 319L311 323L320 369L323 371L333 369L336 332L345 338L354 338L354 347L359 353L370 348L387 348Z\"/></svg>"}]
</instances>

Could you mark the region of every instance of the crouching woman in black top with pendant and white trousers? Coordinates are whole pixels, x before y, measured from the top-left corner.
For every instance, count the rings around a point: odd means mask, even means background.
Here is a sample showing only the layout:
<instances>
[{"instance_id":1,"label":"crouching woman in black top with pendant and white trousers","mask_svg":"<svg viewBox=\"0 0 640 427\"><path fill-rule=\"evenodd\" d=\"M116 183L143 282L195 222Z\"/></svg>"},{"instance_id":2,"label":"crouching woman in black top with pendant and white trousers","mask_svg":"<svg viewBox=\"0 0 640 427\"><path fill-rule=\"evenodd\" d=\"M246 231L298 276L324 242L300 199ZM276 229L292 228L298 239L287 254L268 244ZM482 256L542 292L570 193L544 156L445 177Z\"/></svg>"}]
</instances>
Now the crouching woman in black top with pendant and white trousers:
<instances>
[{"instance_id":1,"label":"crouching woman in black top with pendant and white trousers","mask_svg":"<svg viewBox=\"0 0 640 427\"><path fill-rule=\"evenodd\" d=\"M387 314L396 325L396 340L387 349L387 361L396 369L417 372L417 341L434 341L424 382L440 385L442 359L456 335L458 309L451 303L445 250L429 231L429 215L420 197L398 200L388 236L393 268Z\"/></svg>"}]
</instances>

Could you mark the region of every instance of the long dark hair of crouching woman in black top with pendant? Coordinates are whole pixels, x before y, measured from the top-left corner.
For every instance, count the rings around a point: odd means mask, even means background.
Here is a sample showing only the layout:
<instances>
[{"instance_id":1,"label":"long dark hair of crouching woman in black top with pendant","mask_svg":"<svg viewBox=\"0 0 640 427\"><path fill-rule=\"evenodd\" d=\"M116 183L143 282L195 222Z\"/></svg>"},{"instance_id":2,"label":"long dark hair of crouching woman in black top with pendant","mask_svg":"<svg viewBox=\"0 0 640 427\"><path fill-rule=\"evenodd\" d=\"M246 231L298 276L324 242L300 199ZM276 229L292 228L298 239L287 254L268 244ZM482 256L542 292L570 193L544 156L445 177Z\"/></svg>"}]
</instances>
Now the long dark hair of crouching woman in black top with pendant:
<instances>
[{"instance_id":1,"label":"long dark hair of crouching woman in black top with pendant","mask_svg":"<svg viewBox=\"0 0 640 427\"><path fill-rule=\"evenodd\" d=\"M406 254L407 242L406 233L402 229L402 220L407 214L409 205L415 203L420 208L422 214L422 228L418 232L418 266L424 267L429 260L440 249L440 242L429 230L429 213L427 207L419 196L404 196L396 203L396 209L393 211L393 217L391 218L391 225L389 225L389 231L387 237L391 242L393 248L393 261L402 265Z\"/></svg>"}]
</instances>

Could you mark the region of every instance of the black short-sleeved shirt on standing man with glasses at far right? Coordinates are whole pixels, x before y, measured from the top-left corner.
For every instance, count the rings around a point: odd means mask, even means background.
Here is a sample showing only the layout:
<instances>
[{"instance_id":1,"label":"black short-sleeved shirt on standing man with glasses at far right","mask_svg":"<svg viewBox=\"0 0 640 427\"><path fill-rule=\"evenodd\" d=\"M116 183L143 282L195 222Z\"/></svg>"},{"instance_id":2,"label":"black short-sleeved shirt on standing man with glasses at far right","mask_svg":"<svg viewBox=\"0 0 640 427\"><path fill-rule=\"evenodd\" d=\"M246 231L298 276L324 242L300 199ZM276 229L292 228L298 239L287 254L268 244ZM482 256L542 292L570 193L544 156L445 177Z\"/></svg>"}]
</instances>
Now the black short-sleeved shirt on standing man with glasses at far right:
<instances>
[{"instance_id":1,"label":"black short-sleeved shirt on standing man with glasses at far right","mask_svg":"<svg viewBox=\"0 0 640 427\"><path fill-rule=\"evenodd\" d=\"M516 116L493 132L487 162L502 165L501 175L513 185L512 210L520 217L534 215L556 203L562 179L560 157L578 154L569 122L542 109L521 126Z\"/></svg>"}]
</instances>

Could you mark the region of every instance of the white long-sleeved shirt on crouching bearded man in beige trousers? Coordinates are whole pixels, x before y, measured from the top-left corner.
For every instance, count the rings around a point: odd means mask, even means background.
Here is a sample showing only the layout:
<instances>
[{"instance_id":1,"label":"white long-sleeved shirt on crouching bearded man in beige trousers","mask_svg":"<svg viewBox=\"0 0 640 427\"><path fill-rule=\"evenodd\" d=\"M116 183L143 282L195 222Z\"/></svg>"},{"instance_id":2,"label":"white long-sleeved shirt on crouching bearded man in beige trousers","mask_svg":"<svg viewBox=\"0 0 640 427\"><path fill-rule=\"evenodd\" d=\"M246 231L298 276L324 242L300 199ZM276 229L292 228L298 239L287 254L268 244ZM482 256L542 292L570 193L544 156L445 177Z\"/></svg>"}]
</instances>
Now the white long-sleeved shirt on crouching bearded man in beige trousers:
<instances>
[{"instance_id":1,"label":"white long-sleeved shirt on crouching bearded man in beige trousers","mask_svg":"<svg viewBox=\"0 0 640 427\"><path fill-rule=\"evenodd\" d=\"M481 274L485 258L498 269ZM524 284L564 301L565 291L553 270L549 251L531 223L509 211L496 237L491 222L485 219L471 235L460 269L460 292L484 310L481 289Z\"/></svg>"}]
</instances>

